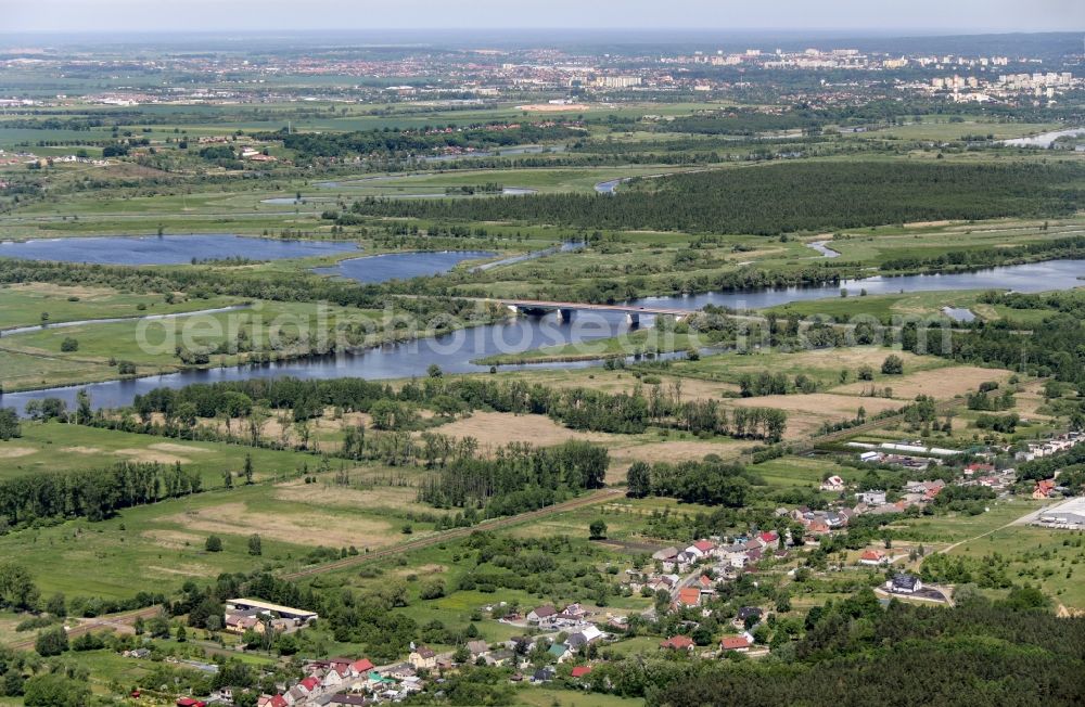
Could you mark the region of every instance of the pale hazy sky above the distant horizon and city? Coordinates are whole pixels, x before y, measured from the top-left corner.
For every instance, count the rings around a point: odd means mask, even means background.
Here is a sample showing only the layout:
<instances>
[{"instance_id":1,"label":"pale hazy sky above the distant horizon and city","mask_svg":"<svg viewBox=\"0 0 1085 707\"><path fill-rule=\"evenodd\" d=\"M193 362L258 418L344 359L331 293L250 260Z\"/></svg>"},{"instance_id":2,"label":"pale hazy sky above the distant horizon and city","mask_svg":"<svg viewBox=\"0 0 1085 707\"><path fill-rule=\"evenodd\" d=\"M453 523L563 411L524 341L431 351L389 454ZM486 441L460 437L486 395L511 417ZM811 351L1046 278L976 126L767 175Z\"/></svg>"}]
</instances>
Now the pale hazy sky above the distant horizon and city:
<instances>
[{"instance_id":1,"label":"pale hazy sky above the distant horizon and city","mask_svg":"<svg viewBox=\"0 0 1085 707\"><path fill-rule=\"evenodd\" d=\"M1085 0L0 0L0 33L282 29L1085 31Z\"/></svg>"}]
</instances>

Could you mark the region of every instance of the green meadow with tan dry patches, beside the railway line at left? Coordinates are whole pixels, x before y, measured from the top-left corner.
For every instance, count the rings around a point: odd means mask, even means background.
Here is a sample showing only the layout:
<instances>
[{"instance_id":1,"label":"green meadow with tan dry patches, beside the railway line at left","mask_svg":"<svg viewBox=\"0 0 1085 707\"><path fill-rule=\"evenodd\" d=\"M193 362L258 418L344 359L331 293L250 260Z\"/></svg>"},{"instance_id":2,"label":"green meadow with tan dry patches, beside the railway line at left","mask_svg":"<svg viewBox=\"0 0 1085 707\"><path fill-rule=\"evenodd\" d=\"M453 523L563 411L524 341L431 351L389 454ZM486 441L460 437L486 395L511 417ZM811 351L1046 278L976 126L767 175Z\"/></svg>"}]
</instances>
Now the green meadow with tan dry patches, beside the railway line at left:
<instances>
[{"instance_id":1,"label":"green meadow with tan dry patches, beside the railway line at left","mask_svg":"<svg viewBox=\"0 0 1085 707\"><path fill-rule=\"evenodd\" d=\"M327 483L328 474L317 488ZM416 537L433 528L408 510L410 501L381 500L380 489L373 496L359 491L357 503L332 505L319 494L293 492L298 484L237 486L127 509L101 523L28 528L0 537L0 552L18 555L47 594L112 599L170 591L187 579L206 581L222 571L296 567L320 547L365 552L400 542L405 523ZM253 534L263 539L258 557L248 554ZM205 551L210 535L222 539L222 552Z\"/></svg>"}]
</instances>

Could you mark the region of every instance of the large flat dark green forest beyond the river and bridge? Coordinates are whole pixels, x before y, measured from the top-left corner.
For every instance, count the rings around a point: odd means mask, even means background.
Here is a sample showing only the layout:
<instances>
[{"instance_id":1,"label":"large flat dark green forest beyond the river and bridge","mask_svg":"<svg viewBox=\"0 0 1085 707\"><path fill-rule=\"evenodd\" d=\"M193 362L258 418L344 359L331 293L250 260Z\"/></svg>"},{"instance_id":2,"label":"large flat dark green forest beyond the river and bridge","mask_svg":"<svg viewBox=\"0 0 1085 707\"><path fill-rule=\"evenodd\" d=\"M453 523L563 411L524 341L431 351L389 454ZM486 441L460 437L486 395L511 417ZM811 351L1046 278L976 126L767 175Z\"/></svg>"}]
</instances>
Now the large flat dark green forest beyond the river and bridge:
<instances>
[{"instance_id":1,"label":"large flat dark green forest beyond the river and bridge","mask_svg":"<svg viewBox=\"0 0 1085 707\"><path fill-rule=\"evenodd\" d=\"M1082 201L1081 190L1071 185L1082 175L1081 167L1070 164L788 163L675 175L652 180L654 191L473 201L369 197L353 209L385 217L773 235L908 221L1064 216Z\"/></svg>"}]
</instances>

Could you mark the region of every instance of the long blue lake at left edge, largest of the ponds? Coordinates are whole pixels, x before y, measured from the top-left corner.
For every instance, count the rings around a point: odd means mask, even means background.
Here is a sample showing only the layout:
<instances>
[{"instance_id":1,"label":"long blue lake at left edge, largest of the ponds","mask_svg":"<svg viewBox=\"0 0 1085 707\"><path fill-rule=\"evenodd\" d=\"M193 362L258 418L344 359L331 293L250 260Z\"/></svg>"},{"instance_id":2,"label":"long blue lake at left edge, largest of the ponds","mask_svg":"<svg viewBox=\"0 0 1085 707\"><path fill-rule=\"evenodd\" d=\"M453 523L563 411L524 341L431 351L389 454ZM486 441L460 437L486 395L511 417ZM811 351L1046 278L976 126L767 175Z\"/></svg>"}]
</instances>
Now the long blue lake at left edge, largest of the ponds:
<instances>
[{"instance_id":1,"label":"long blue lake at left edge, largest of the ponds","mask_svg":"<svg viewBox=\"0 0 1085 707\"><path fill-rule=\"evenodd\" d=\"M0 243L0 257L98 265L181 265L196 260L248 258L286 260L357 250L343 241L280 241L232 233L193 235L106 235L35 239Z\"/></svg>"}]
</instances>

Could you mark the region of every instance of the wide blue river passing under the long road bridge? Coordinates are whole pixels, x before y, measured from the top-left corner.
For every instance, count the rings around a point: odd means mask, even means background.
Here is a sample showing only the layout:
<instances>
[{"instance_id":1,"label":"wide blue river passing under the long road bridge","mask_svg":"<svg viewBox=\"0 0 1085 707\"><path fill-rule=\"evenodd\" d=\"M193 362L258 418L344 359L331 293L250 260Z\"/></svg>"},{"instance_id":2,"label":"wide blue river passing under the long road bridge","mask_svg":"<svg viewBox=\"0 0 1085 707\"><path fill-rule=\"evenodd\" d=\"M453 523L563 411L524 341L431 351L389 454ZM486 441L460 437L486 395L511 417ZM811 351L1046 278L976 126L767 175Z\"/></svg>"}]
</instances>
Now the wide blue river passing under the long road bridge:
<instances>
[{"instance_id":1,"label":"wide blue river passing under the long road bridge","mask_svg":"<svg viewBox=\"0 0 1085 707\"><path fill-rule=\"evenodd\" d=\"M847 288L857 296L860 288L868 294L896 292L961 291L1011 288L1018 292L1069 290L1083 285L1085 260L1050 260L1019 266L992 268L979 272L908 275L903 278L875 277L845 281L824 287L789 287L746 293L707 293L676 297L648 297L630 303L634 306L666 306L674 309L701 309L705 305L735 308L762 308L786 304L827 299L840 296ZM646 322L647 324L648 322ZM29 400L56 397L75 404L75 395L86 389L95 408L116 408L131 403L136 395L166 386L179 388L193 383L244 380L252 377L296 376L299 378L336 378L358 376L370 380L423 376L431 364L448 373L486 371L471 361L497 354L516 354L570 342L589 342L615 336L629 331L623 314L597 312L591 316L577 313L572 321L561 321L549 314L542 318L518 318L500 324L477 326L445 336L384 346L359 354L289 361L256 367L235 367L206 371L183 371L161 376L129 381L113 381L86 386L69 386L26 393L8 393L0 396L0 404L22 411ZM526 367L501 367L501 370L523 368L587 368L598 361L575 363L545 363Z\"/></svg>"}]
</instances>

